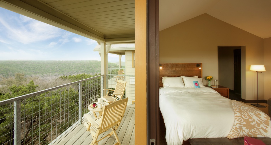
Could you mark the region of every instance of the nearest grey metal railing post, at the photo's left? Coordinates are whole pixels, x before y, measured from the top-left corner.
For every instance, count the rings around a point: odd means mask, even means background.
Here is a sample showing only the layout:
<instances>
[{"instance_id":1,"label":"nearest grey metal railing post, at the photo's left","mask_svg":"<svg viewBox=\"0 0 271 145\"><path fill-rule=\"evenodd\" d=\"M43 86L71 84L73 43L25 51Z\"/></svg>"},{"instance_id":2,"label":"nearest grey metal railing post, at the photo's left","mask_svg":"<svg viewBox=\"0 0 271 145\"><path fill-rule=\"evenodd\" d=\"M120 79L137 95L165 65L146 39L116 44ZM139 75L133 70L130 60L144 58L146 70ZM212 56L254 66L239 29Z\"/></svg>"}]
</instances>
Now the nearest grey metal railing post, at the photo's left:
<instances>
[{"instance_id":1,"label":"nearest grey metal railing post, at the photo's left","mask_svg":"<svg viewBox=\"0 0 271 145\"><path fill-rule=\"evenodd\" d=\"M21 144L21 100L14 101L14 144Z\"/></svg>"}]
</instances>

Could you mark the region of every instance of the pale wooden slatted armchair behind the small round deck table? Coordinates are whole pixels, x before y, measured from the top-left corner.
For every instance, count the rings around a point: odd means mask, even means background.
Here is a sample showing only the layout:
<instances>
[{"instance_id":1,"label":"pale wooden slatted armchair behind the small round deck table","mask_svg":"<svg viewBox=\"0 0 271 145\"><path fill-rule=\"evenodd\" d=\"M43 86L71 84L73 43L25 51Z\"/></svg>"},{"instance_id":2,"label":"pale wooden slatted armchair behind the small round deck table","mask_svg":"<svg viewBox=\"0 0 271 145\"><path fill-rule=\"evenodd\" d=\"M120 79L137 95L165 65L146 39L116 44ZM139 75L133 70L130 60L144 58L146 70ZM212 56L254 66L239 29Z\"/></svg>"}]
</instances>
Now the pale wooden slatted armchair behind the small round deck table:
<instances>
[{"instance_id":1,"label":"pale wooden slatted armchair behind the small round deck table","mask_svg":"<svg viewBox=\"0 0 271 145\"><path fill-rule=\"evenodd\" d=\"M107 90L107 94L104 97L101 97L106 103L112 103L115 102L116 100L122 99L124 90L126 86L126 81L118 80L116 84L116 88L114 90L112 89L103 89ZM108 96L109 91L114 91L111 96Z\"/></svg>"}]
</instances>

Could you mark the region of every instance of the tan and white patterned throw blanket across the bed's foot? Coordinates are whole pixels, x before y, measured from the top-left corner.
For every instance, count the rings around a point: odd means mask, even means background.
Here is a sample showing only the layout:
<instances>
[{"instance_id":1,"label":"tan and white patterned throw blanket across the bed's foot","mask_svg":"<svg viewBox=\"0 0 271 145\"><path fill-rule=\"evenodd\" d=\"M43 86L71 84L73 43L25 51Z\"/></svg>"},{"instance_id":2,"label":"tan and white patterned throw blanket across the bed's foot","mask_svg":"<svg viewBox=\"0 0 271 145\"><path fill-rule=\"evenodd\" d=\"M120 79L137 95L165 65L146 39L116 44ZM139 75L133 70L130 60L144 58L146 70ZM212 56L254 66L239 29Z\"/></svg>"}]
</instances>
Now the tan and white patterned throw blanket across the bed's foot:
<instances>
[{"instance_id":1,"label":"tan and white patterned throw blanket across the bed's foot","mask_svg":"<svg viewBox=\"0 0 271 145\"><path fill-rule=\"evenodd\" d=\"M228 138L266 137L270 117L257 108L233 100L234 126Z\"/></svg>"}]
</instances>

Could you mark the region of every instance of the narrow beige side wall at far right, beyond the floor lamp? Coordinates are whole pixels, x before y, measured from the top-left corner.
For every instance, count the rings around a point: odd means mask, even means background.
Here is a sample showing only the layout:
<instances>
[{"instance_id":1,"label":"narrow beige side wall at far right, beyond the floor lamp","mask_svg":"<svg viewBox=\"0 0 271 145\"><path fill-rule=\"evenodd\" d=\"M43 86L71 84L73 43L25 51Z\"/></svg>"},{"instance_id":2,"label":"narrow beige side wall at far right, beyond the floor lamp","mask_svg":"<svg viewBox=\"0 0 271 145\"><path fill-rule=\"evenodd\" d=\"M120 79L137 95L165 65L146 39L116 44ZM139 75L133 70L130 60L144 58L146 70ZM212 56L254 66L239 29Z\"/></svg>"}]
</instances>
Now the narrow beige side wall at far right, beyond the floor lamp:
<instances>
[{"instance_id":1,"label":"narrow beige side wall at far right, beyond the floor lamp","mask_svg":"<svg viewBox=\"0 0 271 145\"><path fill-rule=\"evenodd\" d=\"M271 37L263 40L263 58L264 58L264 67L266 69L263 72L264 75L264 99L268 100L271 98Z\"/></svg>"}]
</instances>

